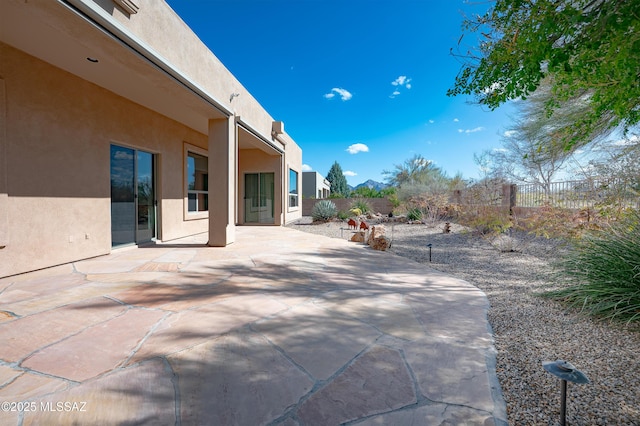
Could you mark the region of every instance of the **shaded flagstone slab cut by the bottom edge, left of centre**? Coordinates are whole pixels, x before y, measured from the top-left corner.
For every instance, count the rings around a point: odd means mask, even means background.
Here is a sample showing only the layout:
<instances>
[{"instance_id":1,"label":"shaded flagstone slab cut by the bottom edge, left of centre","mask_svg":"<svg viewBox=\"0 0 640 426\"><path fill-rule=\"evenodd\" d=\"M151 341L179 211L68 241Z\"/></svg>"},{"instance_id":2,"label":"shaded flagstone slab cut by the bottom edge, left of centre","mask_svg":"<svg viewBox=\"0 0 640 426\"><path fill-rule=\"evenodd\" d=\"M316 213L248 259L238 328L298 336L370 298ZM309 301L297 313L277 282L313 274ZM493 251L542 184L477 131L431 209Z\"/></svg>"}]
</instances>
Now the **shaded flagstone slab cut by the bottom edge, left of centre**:
<instances>
[{"instance_id":1,"label":"shaded flagstone slab cut by the bottom edge, left of centre","mask_svg":"<svg viewBox=\"0 0 640 426\"><path fill-rule=\"evenodd\" d=\"M189 401L181 407L183 424L268 424L314 385L267 339L246 331L168 359L179 378L181 398Z\"/></svg>"}]
</instances>

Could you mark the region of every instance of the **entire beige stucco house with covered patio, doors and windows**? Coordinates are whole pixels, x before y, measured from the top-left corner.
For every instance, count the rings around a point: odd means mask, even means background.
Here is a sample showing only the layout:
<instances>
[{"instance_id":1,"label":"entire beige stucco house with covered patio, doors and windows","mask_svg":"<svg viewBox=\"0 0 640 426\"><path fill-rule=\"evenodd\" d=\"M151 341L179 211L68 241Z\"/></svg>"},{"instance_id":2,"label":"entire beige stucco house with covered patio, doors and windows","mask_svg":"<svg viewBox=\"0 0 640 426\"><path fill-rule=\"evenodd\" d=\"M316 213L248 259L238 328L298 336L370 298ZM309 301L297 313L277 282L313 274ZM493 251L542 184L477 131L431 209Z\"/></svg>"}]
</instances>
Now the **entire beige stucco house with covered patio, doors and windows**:
<instances>
[{"instance_id":1,"label":"entire beige stucco house with covered patio, doors and windows","mask_svg":"<svg viewBox=\"0 0 640 426\"><path fill-rule=\"evenodd\" d=\"M206 232L226 246L301 216L301 170L163 0L0 0L0 277Z\"/></svg>"}]
</instances>

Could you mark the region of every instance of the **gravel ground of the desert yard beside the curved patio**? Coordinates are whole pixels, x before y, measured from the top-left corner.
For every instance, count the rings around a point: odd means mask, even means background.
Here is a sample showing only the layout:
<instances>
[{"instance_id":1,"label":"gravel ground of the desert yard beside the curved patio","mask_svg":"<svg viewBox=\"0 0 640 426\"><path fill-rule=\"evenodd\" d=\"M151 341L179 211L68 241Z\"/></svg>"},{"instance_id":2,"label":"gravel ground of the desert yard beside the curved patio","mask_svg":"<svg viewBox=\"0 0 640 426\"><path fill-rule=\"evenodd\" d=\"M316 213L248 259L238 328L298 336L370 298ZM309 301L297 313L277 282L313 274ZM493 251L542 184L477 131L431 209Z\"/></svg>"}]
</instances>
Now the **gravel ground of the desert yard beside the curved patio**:
<instances>
[{"instance_id":1,"label":"gravel ground of the desert yard beside the curved patio","mask_svg":"<svg viewBox=\"0 0 640 426\"><path fill-rule=\"evenodd\" d=\"M304 232L347 239L345 222L289 225ZM391 252L426 263L483 290L498 351L496 370L512 425L560 424L560 380L542 361L564 359L591 384L568 387L567 424L640 425L640 327L595 321L536 296L550 285L558 242L516 236L499 242L452 224L385 224ZM427 244L432 244L429 262ZM500 249L515 249L503 252Z\"/></svg>"}]
</instances>

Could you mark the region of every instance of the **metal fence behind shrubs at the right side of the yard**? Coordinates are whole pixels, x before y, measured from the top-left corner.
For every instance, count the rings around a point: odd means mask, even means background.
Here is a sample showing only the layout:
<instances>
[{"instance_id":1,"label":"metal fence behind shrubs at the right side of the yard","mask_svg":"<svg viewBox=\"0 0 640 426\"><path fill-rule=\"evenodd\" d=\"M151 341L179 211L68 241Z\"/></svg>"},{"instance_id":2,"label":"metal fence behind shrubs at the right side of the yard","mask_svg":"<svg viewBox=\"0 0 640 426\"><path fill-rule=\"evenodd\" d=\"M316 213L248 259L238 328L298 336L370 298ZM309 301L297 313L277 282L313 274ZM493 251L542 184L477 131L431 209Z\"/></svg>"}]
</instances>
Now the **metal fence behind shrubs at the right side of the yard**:
<instances>
[{"instance_id":1,"label":"metal fence behind shrubs at the right side of the yard","mask_svg":"<svg viewBox=\"0 0 640 426\"><path fill-rule=\"evenodd\" d=\"M551 205L567 209L616 205L640 209L640 182L623 179L587 179L580 181L517 185L515 205L540 207Z\"/></svg>"}]
</instances>

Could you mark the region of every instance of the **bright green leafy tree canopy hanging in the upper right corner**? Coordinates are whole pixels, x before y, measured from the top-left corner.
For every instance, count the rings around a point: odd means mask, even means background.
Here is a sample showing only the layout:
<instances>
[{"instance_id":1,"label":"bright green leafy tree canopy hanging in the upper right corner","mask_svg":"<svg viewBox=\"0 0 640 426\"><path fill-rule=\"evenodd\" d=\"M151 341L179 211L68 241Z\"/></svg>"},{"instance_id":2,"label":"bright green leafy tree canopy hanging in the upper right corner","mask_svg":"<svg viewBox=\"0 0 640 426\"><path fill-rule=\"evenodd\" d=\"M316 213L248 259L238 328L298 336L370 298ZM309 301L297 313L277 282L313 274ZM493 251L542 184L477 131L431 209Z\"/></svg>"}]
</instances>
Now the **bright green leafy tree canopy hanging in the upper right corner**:
<instances>
[{"instance_id":1,"label":"bright green leafy tree canopy hanging in the upper right corner","mask_svg":"<svg viewBox=\"0 0 640 426\"><path fill-rule=\"evenodd\" d=\"M496 0L464 21L459 45L472 35L449 96L493 109L549 77L548 114L572 100L588 106L564 128L567 148L589 142L602 117L625 131L640 122L640 0Z\"/></svg>"}]
</instances>

